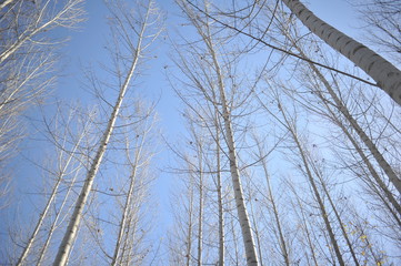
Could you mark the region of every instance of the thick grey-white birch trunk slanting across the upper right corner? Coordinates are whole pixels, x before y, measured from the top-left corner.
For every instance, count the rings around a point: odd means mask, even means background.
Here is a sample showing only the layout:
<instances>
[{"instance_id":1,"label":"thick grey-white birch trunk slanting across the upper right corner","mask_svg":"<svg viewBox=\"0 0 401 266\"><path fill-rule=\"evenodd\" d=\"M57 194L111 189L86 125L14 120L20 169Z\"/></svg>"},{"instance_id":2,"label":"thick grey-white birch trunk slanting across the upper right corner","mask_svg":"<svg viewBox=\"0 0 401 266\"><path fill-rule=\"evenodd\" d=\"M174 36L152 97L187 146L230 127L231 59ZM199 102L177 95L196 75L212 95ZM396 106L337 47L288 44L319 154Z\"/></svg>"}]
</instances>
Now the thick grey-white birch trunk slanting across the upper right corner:
<instances>
[{"instance_id":1,"label":"thick grey-white birch trunk slanting across the upper right corner","mask_svg":"<svg viewBox=\"0 0 401 266\"><path fill-rule=\"evenodd\" d=\"M401 104L401 71L385 59L315 17L299 0L282 0L310 31L367 72Z\"/></svg>"}]
</instances>

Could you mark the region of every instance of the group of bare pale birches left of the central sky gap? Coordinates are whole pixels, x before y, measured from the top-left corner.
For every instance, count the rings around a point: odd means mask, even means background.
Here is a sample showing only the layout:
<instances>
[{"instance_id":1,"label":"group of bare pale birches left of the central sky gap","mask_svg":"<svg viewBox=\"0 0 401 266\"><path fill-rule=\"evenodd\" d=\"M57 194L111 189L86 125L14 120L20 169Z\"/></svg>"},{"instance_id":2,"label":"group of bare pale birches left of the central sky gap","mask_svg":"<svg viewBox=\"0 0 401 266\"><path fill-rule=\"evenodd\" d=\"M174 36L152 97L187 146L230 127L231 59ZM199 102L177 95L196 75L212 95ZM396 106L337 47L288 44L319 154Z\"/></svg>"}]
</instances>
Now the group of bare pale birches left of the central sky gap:
<instances>
[{"instance_id":1,"label":"group of bare pale birches left of the central sky gap","mask_svg":"<svg viewBox=\"0 0 401 266\"><path fill-rule=\"evenodd\" d=\"M100 73L87 71L87 88L98 98L94 108L46 103L57 68L52 51L62 41L52 40L49 32L81 22L83 1L17 0L1 6L1 163L12 152L19 155L17 141L27 134L20 119L33 104L40 104L42 121L36 130L51 147L49 158L34 162L49 187L41 190L44 203L29 227L10 225L1 264L132 265L153 256L148 239L153 180L149 167L157 116L153 104L139 98L136 80L151 58L149 48L162 30L162 20L153 1L106 4L111 63ZM6 174L1 178L1 196L8 198L8 184L17 181L6 180ZM22 224L28 226L26 221Z\"/></svg>"}]
</instances>

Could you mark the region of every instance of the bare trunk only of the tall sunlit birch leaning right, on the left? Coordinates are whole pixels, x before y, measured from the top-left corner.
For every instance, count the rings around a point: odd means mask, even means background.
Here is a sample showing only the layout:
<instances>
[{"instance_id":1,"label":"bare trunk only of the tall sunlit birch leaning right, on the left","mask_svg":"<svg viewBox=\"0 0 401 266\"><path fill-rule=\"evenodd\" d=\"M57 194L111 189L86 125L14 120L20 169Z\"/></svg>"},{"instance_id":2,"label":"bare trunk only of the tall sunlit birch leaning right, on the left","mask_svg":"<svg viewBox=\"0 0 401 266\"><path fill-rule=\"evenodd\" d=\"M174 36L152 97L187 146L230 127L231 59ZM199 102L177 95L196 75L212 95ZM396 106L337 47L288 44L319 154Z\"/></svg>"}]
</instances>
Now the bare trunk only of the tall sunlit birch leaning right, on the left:
<instances>
[{"instance_id":1,"label":"bare trunk only of the tall sunlit birch leaning right, on the left","mask_svg":"<svg viewBox=\"0 0 401 266\"><path fill-rule=\"evenodd\" d=\"M70 252L71 252L71 246L72 246L72 244L73 244L73 242L74 242L74 239L77 237L78 228L79 228L79 225L80 225L80 222L81 222L81 218L82 218L83 208L84 208L84 206L87 204L89 194L90 194L90 192L92 190L92 186L93 186L94 177L96 177L96 175L98 173L99 166L100 166L100 164L102 162L103 155L104 155L106 150L107 150L107 145L108 145L109 140L111 137L111 134L113 132L113 126L116 124L116 121L117 121L117 117L118 117L118 114L119 114L123 98L124 98L124 95L127 93L128 86L129 86L129 84L130 84L130 82L132 80L132 76L134 74L134 71L137 69L139 58L141 57L141 52L142 52L142 49L143 49L142 48L142 39L144 37L144 31L146 31L146 28L148 25L148 19L149 19L149 16L150 16L150 4L151 4L151 1L149 0L146 18L144 18L143 23L141 24L141 29L140 29L139 34L138 34L138 42L137 42L137 45L134 48L134 52L132 54L133 59L132 59L130 69L128 71L127 76L124 79L124 82L123 82L123 84L122 84L122 86L120 89L119 96L118 96L118 99L117 99L117 101L114 103L113 111L112 111L112 113L110 115L108 125L107 125L107 127L104 130L104 133L103 133L103 136L101 139L100 145L99 145L98 151L96 153L96 156L94 156L94 158L92 161L90 170L88 171L83 187L82 187L82 190L80 192L80 195L78 197L78 201L76 203L74 212L73 212L73 214L71 216L70 223L69 223L69 225L67 227L67 232L66 232L64 237L63 237L63 239L62 239L62 242L60 244L57 257L54 259L54 263L53 263L54 266L66 265L67 264L68 257L69 257Z\"/></svg>"}]
</instances>

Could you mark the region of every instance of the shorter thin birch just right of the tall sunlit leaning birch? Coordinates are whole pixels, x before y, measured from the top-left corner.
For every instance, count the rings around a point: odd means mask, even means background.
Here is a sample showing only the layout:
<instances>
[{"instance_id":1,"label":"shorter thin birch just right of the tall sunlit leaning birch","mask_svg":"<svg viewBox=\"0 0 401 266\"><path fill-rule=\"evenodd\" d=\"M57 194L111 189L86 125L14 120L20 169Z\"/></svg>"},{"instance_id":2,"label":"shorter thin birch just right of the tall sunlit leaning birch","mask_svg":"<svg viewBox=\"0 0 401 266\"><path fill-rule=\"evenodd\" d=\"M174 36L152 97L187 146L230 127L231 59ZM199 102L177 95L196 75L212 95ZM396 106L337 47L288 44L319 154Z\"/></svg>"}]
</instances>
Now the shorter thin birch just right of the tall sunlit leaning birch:
<instances>
[{"instance_id":1,"label":"shorter thin birch just right of the tall sunlit leaning birch","mask_svg":"<svg viewBox=\"0 0 401 266\"><path fill-rule=\"evenodd\" d=\"M140 122L126 122L131 126L124 129L129 178L127 185L123 185L119 192L124 198L120 200L120 204L116 203L121 205L121 215L113 253L110 256L111 265L146 264L151 248L146 244L146 234L151 229L151 221L146 217L146 209L151 208L147 207L146 203L149 201L149 186L152 183L149 167L154 155L152 144L154 145L156 142L152 139L154 139L157 117L152 113L153 108L147 109L142 106L143 103L137 105L136 114L142 113L143 116L140 116ZM117 187L111 190L117 191Z\"/></svg>"}]
</instances>

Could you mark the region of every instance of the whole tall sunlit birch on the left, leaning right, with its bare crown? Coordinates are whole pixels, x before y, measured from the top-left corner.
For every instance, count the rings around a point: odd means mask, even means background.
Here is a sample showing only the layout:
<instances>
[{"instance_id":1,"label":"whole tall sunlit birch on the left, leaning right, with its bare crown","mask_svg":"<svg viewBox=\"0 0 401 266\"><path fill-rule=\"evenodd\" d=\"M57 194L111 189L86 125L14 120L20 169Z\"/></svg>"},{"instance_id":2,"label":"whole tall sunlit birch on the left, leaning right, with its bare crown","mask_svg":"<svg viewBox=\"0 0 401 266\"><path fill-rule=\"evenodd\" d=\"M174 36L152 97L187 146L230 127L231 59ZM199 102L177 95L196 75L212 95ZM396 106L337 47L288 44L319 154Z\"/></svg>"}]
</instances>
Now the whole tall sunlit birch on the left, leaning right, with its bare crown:
<instances>
[{"instance_id":1,"label":"whole tall sunlit birch on the left, leaning right, with its bare crown","mask_svg":"<svg viewBox=\"0 0 401 266\"><path fill-rule=\"evenodd\" d=\"M119 83L119 95L116 103L112 105L112 112L109 116L107 126L103 130L103 135L99 142L96 156L87 173L84 184L76 203L74 212L70 218L54 259L54 265L66 265L68 262L72 244L77 237L79 224L82 219L83 208L87 205L94 177L112 135L123 99L131 86L132 79L136 78L140 60L143 58L146 50L159 34L159 29L152 28L158 27L157 22L159 20L157 8L152 1L146 1L143 6L140 3L137 12L133 12L129 6L126 6L124 2L121 1L110 2L109 4L110 12L112 13L112 21L116 27L113 28L114 40L118 44L121 44L121 47L116 47L116 62L118 63L117 73L118 78L121 79L121 83ZM121 49L127 50L124 51ZM119 52L126 52L127 54L119 54Z\"/></svg>"}]
</instances>

